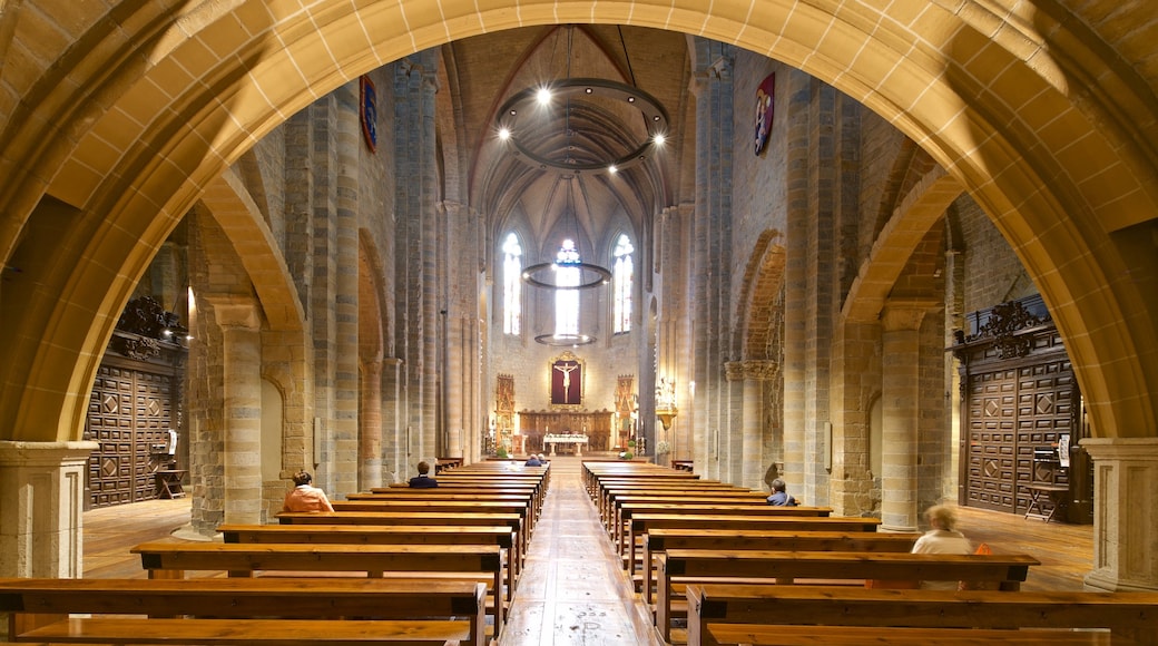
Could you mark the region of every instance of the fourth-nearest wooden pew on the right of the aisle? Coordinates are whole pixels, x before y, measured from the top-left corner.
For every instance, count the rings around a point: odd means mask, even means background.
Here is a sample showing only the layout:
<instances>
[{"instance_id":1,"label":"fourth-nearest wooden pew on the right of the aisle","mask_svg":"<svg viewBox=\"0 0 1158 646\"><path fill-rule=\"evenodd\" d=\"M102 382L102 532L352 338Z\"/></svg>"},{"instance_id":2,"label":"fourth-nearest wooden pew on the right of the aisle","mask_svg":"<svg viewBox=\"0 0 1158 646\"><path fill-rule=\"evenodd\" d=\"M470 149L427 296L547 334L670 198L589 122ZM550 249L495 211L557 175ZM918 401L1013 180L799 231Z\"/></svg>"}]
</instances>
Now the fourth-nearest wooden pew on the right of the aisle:
<instances>
[{"instance_id":1,"label":"fourth-nearest wooden pew on the right of the aisle","mask_svg":"<svg viewBox=\"0 0 1158 646\"><path fill-rule=\"evenodd\" d=\"M790 507L791 508L791 507ZM652 529L763 529L776 531L877 531L880 519L851 516L777 516L735 513L632 514L628 522L628 563L636 561L636 544Z\"/></svg>"}]
</instances>

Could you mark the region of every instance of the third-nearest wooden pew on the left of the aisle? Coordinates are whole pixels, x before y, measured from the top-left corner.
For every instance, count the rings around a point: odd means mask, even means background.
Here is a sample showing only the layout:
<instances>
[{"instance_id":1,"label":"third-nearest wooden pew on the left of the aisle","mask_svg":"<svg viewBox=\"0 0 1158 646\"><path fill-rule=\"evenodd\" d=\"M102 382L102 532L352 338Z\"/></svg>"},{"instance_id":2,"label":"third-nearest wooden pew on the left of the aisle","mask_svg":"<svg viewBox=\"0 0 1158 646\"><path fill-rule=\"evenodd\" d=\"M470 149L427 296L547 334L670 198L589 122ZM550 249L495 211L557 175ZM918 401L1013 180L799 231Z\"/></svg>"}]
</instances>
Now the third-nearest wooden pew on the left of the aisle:
<instances>
[{"instance_id":1,"label":"third-nearest wooden pew on the left of the aisle","mask_svg":"<svg viewBox=\"0 0 1158 646\"><path fill-rule=\"evenodd\" d=\"M366 524L220 524L226 543L336 543L354 545L498 545L507 550L506 599L514 595L519 544L506 526L366 526Z\"/></svg>"}]
</instances>

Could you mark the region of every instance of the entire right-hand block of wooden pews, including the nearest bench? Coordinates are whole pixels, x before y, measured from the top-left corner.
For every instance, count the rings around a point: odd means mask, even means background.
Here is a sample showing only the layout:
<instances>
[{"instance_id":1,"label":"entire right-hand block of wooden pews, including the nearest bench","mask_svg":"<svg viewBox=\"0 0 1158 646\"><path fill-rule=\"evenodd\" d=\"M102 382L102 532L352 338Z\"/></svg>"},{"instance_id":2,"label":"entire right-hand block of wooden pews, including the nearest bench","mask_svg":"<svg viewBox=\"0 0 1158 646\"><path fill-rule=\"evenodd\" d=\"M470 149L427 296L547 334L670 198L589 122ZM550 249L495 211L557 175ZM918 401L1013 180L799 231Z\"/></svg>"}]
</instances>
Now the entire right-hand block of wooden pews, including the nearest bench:
<instances>
[{"instance_id":1,"label":"entire right-hand block of wooden pews, including the nearest bench","mask_svg":"<svg viewBox=\"0 0 1158 646\"><path fill-rule=\"evenodd\" d=\"M584 477L669 643L1158 644L1158 595L1024 593L1038 565L1025 555L913 555L919 534L823 508L745 509L753 492L652 465L585 464ZM880 586L922 580L985 589ZM673 629L684 612L687 631Z\"/></svg>"}]
</instances>

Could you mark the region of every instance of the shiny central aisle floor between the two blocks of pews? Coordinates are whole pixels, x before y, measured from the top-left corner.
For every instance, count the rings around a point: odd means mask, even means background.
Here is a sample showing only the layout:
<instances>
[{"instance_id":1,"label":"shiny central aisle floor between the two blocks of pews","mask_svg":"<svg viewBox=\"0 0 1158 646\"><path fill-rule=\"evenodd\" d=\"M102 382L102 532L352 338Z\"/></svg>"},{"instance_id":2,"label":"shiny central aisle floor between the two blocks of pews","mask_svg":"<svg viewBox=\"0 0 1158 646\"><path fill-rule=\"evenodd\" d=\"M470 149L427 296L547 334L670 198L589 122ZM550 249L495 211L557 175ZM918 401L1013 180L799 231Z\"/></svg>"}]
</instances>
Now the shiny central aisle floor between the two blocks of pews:
<instances>
[{"instance_id":1,"label":"shiny central aisle floor between the two blocks of pews","mask_svg":"<svg viewBox=\"0 0 1158 646\"><path fill-rule=\"evenodd\" d=\"M662 646L584 490L580 467L578 457L551 460L551 487L499 645Z\"/></svg>"}]
</instances>

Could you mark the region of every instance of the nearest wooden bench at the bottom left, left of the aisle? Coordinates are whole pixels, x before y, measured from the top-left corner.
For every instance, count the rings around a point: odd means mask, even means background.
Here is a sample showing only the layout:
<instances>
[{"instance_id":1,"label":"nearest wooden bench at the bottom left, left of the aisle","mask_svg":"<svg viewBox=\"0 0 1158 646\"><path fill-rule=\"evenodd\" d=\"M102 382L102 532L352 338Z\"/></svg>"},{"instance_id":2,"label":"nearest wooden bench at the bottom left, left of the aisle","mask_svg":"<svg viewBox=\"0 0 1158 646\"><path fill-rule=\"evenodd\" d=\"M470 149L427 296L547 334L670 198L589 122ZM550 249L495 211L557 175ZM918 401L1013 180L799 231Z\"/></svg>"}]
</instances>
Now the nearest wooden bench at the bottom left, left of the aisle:
<instances>
[{"instance_id":1,"label":"nearest wooden bench at the bottom left, left of the aisle","mask_svg":"<svg viewBox=\"0 0 1158 646\"><path fill-rule=\"evenodd\" d=\"M0 579L0 612L12 614L13 641L309 645L373 634L483 646L485 590L381 579Z\"/></svg>"}]
</instances>

